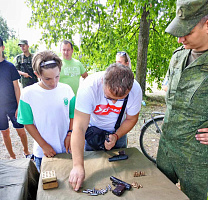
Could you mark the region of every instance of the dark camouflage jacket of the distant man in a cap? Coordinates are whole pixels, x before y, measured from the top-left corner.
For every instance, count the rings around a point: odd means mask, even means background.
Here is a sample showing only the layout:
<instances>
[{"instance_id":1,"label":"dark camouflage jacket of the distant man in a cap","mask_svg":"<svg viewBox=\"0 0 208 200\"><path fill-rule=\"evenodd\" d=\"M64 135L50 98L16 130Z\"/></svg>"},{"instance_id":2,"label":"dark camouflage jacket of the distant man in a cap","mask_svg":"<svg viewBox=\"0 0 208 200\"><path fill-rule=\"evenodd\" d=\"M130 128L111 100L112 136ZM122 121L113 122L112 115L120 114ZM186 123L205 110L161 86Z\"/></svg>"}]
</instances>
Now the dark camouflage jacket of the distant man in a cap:
<instances>
[{"instance_id":1,"label":"dark camouflage jacket of the distant man in a cap","mask_svg":"<svg viewBox=\"0 0 208 200\"><path fill-rule=\"evenodd\" d=\"M32 57L33 54L30 54L30 56L26 57L22 53L15 58L15 67L17 70L28 73L32 77L25 78L24 76L21 76L20 82L22 83L23 88L38 81L37 76L34 74L32 69Z\"/></svg>"}]
</instances>

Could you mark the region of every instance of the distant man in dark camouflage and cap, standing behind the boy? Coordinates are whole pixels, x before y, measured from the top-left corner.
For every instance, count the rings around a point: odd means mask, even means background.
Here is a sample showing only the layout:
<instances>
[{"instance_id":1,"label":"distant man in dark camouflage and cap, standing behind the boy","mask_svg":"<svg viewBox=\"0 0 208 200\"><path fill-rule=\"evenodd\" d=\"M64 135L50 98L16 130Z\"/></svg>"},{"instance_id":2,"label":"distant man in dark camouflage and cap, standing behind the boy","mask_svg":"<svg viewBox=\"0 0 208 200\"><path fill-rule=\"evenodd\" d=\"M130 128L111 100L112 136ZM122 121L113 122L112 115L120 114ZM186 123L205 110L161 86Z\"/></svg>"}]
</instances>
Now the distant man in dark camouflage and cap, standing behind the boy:
<instances>
[{"instance_id":1,"label":"distant man in dark camouflage and cap, standing behind the boy","mask_svg":"<svg viewBox=\"0 0 208 200\"><path fill-rule=\"evenodd\" d=\"M15 67L21 75L20 82L22 87L32 85L38 81L37 76L34 74L32 69L32 57L33 54L29 52L29 45L27 40L20 40L18 46L22 50L22 54L18 55L15 60Z\"/></svg>"}]
</instances>

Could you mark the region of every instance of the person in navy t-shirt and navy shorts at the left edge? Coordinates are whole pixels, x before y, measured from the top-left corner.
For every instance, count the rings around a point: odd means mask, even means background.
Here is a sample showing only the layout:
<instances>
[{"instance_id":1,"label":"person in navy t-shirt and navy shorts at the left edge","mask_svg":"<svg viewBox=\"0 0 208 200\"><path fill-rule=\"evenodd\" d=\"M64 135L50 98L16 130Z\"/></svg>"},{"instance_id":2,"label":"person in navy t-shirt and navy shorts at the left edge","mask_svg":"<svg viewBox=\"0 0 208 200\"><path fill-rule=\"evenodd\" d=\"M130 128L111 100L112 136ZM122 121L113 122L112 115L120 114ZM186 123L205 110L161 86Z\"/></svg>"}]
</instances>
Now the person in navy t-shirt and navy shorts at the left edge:
<instances>
[{"instance_id":1,"label":"person in navy t-shirt and navy shorts at the left edge","mask_svg":"<svg viewBox=\"0 0 208 200\"><path fill-rule=\"evenodd\" d=\"M20 98L18 84L20 75L15 66L3 58L4 49L3 40L0 37L0 130L10 159L16 159L16 155L12 149L8 118L11 120L13 127L21 139L25 157L32 158L33 155L28 150L28 141L24 126L19 124L16 118Z\"/></svg>"}]
</instances>

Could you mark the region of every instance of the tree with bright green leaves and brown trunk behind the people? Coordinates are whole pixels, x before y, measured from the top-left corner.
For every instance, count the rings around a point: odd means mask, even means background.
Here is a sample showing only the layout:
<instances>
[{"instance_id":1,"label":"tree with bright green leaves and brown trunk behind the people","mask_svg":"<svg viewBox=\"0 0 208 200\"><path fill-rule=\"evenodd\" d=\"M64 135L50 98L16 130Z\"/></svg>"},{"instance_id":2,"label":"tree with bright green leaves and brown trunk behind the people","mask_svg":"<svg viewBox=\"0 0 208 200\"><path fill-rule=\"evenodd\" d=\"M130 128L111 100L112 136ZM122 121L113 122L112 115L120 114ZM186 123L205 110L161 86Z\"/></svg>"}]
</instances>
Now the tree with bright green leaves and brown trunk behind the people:
<instances>
[{"instance_id":1,"label":"tree with bright green leaves and brown trunk behind the people","mask_svg":"<svg viewBox=\"0 0 208 200\"><path fill-rule=\"evenodd\" d=\"M161 84L176 40L165 34L175 13L175 0L27 0L32 8L31 26L43 29L48 46L75 33L82 35L82 61L98 70L115 61L117 51L130 55L132 70L145 91ZM137 65L136 65L137 63ZM137 67L136 67L137 66ZM148 72L148 73L147 73Z\"/></svg>"}]
</instances>

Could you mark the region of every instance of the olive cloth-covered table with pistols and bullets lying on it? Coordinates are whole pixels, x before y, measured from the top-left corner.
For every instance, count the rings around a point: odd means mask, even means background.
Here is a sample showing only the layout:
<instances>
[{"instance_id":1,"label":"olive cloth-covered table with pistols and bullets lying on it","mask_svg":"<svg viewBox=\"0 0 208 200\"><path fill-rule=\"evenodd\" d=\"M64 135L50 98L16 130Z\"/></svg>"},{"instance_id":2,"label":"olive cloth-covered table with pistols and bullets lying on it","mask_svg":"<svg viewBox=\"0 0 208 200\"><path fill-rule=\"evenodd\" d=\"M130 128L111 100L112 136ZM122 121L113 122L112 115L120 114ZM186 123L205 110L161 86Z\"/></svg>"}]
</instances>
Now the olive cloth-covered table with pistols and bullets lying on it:
<instances>
[{"instance_id":1,"label":"olive cloth-covered table with pistols and bullets lying on it","mask_svg":"<svg viewBox=\"0 0 208 200\"><path fill-rule=\"evenodd\" d=\"M188 197L183 194L156 166L150 162L138 149L127 148L127 160L109 162L108 158L117 154L118 150L112 151L91 151L84 154L85 181L80 192L74 192L68 183L68 177L72 169L72 158L70 154L59 154L54 158L43 158L41 170L55 170L59 187L43 190L40 176L37 199L141 199L141 200L185 200ZM135 171L144 171L146 176L134 177ZM83 189L93 187L105 188L108 184L112 186L110 176L115 176L127 183L134 181L143 186L141 189L132 188L125 191L121 197L115 196L112 192L96 197L82 193ZM114 189L114 186L112 186Z\"/></svg>"}]
</instances>

